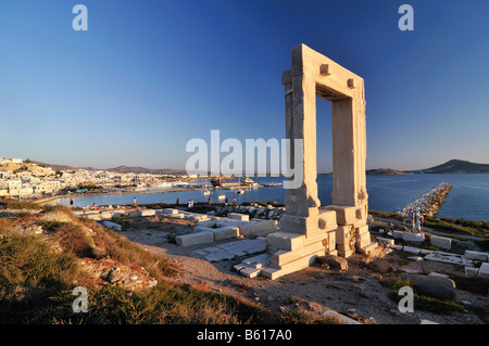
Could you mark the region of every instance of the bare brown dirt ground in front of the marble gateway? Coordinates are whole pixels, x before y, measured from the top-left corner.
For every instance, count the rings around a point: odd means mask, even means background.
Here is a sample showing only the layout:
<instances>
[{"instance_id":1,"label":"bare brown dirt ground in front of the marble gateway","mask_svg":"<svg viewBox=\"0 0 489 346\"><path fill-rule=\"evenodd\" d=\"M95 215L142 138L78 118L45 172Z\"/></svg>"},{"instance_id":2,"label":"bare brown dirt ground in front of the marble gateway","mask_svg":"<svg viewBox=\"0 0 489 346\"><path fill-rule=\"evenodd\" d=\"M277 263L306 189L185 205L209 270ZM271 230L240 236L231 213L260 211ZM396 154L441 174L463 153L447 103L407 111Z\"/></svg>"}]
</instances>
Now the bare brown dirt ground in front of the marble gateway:
<instances>
[{"instance_id":1,"label":"bare brown dirt ground in front of the marble gateway","mask_svg":"<svg viewBox=\"0 0 489 346\"><path fill-rule=\"evenodd\" d=\"M366 265L365 257L355 254L348 259L349 269L339 272L336 269L324 269L312 266L277 280L258 277L244 278L234 271L233 266L241 262L246 257L231 260L210 262L201 259L195 251L211 245L193 245L181 247L168 242L168 234L185 233L191 228L191 222L174 220L161 222L150 218L124 228L120 234L138 244L147 251L168 259L175 265L178 274L168 278L186 284L199 284L210 290L241 296L249 302L261 304L272 311L279 312L286 308L287 300L294 296L296 302L304 310L322 313L325 310L335 310L364 323L378 324L418 324L422 320L449 324L481 324L488 323L489 299L488 295L477 295L466 291L456 290L457 302L468 302L486 312L477 316L472 309L465 312L438 315L416 310L414 312L400 312L398 304L388 297L390 289L383 285L380 280L391 275L404 273L438 272L446 274L464 275L463 266L448 265L437 261L415 261L409 259L405 253L394 251L386 255L375 266ZM234 240L238 241L238 240ZM222 241L225 243L229 241ZM215 245L215 243L214 243ZM250 256L248 256L250 257ZM392 272L393 271L393 272Z\"/></svg>"}]
</instances>

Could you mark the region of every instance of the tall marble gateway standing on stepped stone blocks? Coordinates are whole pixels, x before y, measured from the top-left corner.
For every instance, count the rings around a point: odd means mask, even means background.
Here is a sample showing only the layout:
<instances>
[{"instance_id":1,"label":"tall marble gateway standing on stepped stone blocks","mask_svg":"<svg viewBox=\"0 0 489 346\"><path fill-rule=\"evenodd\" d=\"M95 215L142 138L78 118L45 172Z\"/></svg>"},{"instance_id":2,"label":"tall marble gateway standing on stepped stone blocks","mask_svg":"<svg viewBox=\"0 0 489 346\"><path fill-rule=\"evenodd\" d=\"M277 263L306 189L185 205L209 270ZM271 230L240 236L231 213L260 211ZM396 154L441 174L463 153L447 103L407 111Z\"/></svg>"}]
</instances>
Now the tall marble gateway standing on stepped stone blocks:
<instances>
[{"instance_id":1,"label":"tall marble gateway standing on stepped stone blocks","mask_svg":"<svg viewBox=\"0 0 489 346\"><path fill-rule=\"evenodd\" d=\"M311 48L292 49L291 69L283 74L286 138L292 167L301 165L302 185L286 191L286 212L279 231L266 238L271 265L262 275L276 279L312 265L317 256L367 254L365 94L361 77ZM333 205L317 197L316 97L331 102ZM293 157L294 139L303 140L302 155ZM299 166L300 167L300 166Z\"/></svg>"}]
</instances>

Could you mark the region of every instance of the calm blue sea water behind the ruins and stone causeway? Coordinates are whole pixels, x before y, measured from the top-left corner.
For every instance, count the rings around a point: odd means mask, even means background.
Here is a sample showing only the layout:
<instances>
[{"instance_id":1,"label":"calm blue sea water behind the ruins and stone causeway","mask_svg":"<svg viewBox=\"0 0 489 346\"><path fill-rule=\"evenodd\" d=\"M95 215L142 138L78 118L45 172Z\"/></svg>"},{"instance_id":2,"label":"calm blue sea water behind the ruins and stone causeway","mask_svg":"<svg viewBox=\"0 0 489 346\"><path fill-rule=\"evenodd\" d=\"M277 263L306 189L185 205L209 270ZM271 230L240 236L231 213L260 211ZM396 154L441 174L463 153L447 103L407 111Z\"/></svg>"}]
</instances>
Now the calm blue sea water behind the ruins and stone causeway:
<instances>
[{"instance_id":1,"label":"calm blue sea water behind the ruins and stone causeway","mask_svg":"<svg viewBox=\"0 0 489 346\"><path fill-rule=\"evenodd\" d=\"M258 183L280 183L283 177L252 177ZM331 204L333 176L317 176L318 198L322 205ZM195 181L193 183L203 183ZM366 187L368 193L368 208L394 213L409 205L413 200L422 196L425 192L435 188L441 182L452 185L444 203L438 210L438 218L466 219L474 221L489 221L489 174L469 175L367 175ZM161 188L159 190L163 190ZM170 188L166 188L170 189ZM175 188L171 188L175 189ZM212 196L214 202L220 194L226 194L229 203L236 196L238 204L242 202L276 201L284 203L286 190L281 187L264 187L244 189L244 192L237 194L236 190L211 190L210 195L204 195L203 191L177 191L177 192L153 192L153 193L130 193L130 194L108 194L87 195L73 197L75 206L97 205L124 205L131 204L133 198L137 198L138 204L151 203L175 203L179 198L180 203L187 204L189 200L195 203L208 202ZM62 197L54 203L70 205L70 197Z\"/></svg>"}]
</instances>

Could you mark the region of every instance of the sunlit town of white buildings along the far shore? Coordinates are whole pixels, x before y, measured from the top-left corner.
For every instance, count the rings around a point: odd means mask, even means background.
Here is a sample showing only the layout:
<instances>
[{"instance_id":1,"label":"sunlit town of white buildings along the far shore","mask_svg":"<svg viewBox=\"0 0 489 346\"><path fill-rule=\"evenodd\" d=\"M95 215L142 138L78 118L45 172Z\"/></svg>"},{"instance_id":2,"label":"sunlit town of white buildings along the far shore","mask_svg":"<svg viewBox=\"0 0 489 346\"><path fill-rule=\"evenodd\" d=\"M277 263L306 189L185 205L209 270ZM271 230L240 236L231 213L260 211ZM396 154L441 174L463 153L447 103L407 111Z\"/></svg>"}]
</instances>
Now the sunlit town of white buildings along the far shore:
<instances>
[{"instance_id":1,"label":"sunlit town of white buildings along the far shore","mask_svg":"<svg viewBox=\"0 0 489 346\"><path fill-rule=\"evenodd\" d=\"M174 175L114 172L95 169L54 170L30 159L0 157L0 198L37 200L84 193L89 190L124 192L149 187L171 187Z\"/></svg>"}]
</instances>

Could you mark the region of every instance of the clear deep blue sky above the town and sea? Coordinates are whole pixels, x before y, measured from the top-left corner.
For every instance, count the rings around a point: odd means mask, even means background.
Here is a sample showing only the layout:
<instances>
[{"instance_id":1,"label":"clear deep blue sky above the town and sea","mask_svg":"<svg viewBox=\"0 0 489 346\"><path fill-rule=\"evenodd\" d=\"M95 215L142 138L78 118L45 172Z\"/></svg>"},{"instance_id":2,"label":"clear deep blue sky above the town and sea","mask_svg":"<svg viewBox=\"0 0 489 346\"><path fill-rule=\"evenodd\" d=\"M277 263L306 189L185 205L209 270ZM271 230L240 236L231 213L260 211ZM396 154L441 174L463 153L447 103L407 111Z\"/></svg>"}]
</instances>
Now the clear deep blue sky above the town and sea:
<instances>
[{"instance_id":1,"label":"clear deep blue sky above the town and sea","mask_svg":"<svg viewBox=\"0 0 489 346\"><path fill-rule=\"evenodd\" d=\"M488 18L487 0L0 0L0 156L185 168L212 129L284 138L280 77L304 43L365 79L367 168L489 163ZM329 171L327 101L317 117Z\"/></svg>"}]
</instances>

